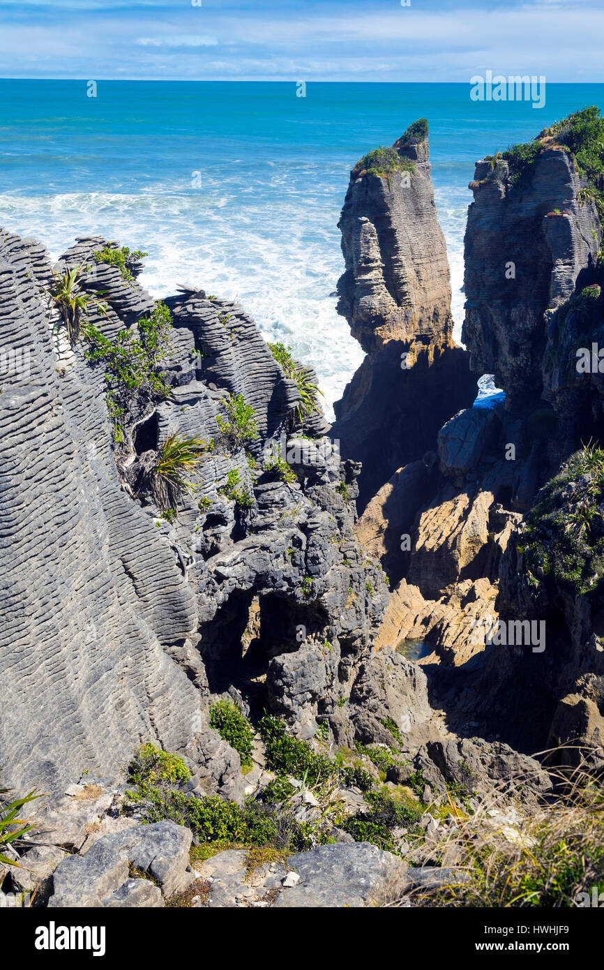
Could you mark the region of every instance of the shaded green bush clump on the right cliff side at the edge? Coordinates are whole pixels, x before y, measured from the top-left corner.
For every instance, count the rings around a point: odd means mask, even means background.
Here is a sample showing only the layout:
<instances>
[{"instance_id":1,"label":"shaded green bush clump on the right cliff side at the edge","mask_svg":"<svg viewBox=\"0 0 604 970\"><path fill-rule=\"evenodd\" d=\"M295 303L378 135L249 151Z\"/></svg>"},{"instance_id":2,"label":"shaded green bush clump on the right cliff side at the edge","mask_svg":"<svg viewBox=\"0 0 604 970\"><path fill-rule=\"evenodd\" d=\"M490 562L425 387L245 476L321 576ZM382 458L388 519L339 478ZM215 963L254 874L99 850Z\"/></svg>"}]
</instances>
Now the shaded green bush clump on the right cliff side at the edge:
<instances>
[{"instance_id":1,"label":"shaded green bush clump on the right cliff side at the edge","mask_svg":"<svg viewBox=\"0 0 604 970\"><path fill-rule=\"evenodd\" d=\"M586 445L539 492L523 533L529 582L553 576L575 593L604 578L604 451Z\"/></svg>"}]
</instances>

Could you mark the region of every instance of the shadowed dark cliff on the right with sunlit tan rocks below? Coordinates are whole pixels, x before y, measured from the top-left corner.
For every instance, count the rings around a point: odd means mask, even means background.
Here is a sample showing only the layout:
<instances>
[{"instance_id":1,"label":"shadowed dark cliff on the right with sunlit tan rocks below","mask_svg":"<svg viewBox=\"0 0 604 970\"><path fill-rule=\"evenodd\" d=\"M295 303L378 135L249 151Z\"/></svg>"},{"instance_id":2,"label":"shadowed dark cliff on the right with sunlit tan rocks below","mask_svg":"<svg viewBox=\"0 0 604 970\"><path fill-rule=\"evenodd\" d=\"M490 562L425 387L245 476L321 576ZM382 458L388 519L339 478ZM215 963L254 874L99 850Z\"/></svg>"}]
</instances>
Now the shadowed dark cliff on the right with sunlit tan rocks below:
<instances>
[{"instance_id":1,"label":"shadowed dark cliff on the right with sunlit tan rocks below","mask_svg":"<svg viewBox=\"0 0 604 970\"><path fill-rule=\"evenodd\" d=\"M479 161L470 182L463 328L472 370L504 394L452 409L433 450L369 499L357 533L394 580L378 645L424 641L430 704L449 727L532 751L600 730L599 598L529 573L523 523L560 462L604 432L601 228L588 178L550 132L522 171L509 154ZM568 488L571 529L585 500ZM543 622L544 654L528 641L489 646L498 621Z\"/></svg>"}]
</instances>

